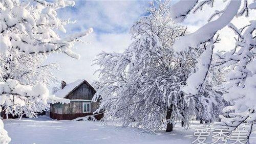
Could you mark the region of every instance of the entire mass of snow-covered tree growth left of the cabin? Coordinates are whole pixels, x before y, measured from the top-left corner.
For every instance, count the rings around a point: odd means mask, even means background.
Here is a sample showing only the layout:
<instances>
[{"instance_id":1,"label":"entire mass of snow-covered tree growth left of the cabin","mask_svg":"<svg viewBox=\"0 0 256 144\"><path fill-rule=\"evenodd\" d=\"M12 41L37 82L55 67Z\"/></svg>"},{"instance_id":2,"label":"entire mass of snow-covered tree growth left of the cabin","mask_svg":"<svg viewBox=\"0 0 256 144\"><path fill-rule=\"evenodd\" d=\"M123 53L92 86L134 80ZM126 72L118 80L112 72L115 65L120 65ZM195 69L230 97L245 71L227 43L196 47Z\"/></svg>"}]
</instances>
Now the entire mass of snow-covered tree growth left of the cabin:
<instances>
[{"instance_id":1,"label":"entire mass of snow-covered tree growth left of the cabin","mask_svg":"<svg viewBox=\"0 0 256 144\"><path fill-rule=\"evenodd\" d=\"M90 34L93 29L66 38L61 38L57 34L57 30L66 32L64 26L73 21L58 18L56 10L74 4L73 1L68 0L54 2L0 0L0 52L1 61L4 62L2 65L4 67L1 69L2 82L0 82L1 105L15 103L11 107L12 110L26 113L27 110L22 109L21 106L28 105L32 101L38 102L38 105L33 105L35 111L40 109L47 99L51 102L58 101L54 96L49 97L45 84L37 81L42 77L47 77L43 79L45 82L52 80L51 74L42 74L42 71L51 71L49 69L51 66L38 65L26 69L22 66L22 61L26 60L25 63L28 64L29 60L32 60L30 65L40 63L42 56L38 54L48 55L52 52L61 52L79 58L79 55L72 51L74 42ZM17 53L19 54L16 55ZM16 63L20 65L16 67L16 71L13 71L14 69L10 67ZM19 73L21 72L19 70L25 71ZM26 114L32 116L33 112ZM0 123L2 128L2 121ZM10 139L7 138L5 141L8 143Z\"/></svg>"}]
</instances>

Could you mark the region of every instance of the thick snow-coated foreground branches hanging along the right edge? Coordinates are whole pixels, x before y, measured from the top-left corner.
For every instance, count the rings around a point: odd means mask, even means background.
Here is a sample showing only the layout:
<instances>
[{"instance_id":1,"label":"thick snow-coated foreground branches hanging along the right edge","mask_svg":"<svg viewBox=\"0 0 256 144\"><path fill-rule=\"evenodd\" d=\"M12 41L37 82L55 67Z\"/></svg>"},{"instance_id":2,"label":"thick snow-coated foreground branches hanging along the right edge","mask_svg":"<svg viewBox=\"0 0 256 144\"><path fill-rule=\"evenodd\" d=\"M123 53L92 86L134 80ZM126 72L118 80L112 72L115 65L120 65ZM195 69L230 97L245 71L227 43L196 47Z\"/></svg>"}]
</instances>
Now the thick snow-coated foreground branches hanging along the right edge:
<instances>
[{"instance_id":1,"label":"thick snow-coated foreground branches hanging along the right edge","mask_svg":"<svg viewBox=\"0 0 256 144\"><path fill-rule=\"evenodd\" d=\"M224 109L225 112L231 112L229 113L230 117L220 117L222 119L222 125L228 126L230 130L238 128L244 122L250 123L251 133L253 121L256 119L255 97L253 96L253 92L255 91L254 59L256 22L255 20L251 20L249 25L239 29L230 21L235 16L248 16L249 11L254 12L253 9L256 9L256 2L247 0L243 1L243 3L241 1L227 1L224 4L226 7L221 11L215 11L210 16L208 23L196 32L177 40L174 44L174 49L176 51L185 51L186 49L191 49L191 47L195 48L204 43L207 44L206 49L203 50L202 55L198 59L196 73L188 78L187 86L184 88L184 91L188 95L196 95L200 92L208 75L210 65L212 64L212 49L214 47L212 42L216 33L228 26L238 35L237 42L235 43L236 47L231 52L218 54L219 60L213 63L214 65L231 68L226 88L227 93L224 94L224 98L227 101L234 102L234 105ZM189 1L188 3L185 0L181 0L171 8L172 17L176 21L182 21L191 11L203 10L205 5L213 7L214 0L195 0ZM212 20L213 18L216 18L216 20Z\"/></svg>"}]
</instances>

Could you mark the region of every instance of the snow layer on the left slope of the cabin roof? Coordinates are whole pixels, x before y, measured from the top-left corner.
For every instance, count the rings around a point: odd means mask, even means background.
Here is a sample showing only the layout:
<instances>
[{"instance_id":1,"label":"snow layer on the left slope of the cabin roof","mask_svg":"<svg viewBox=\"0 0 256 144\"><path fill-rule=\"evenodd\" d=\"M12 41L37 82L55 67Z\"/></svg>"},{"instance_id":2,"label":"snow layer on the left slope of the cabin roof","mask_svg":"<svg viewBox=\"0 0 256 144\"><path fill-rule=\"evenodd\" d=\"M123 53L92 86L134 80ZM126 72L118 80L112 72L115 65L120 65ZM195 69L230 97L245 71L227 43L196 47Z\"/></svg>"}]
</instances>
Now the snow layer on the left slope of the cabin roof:
<instances>
[{"instance_id":1,"label":"snow layer on the left slope of the cabin roof","mask_svg":"<svg viewBox=\"0 0 256 144\"><path fill-rule=\"evenodd\" d=\"M68 95L74 88L76 88L78 85L80 85L83 81L83 79L79 79L75 82L67 84L63 89L58 90L54 93L56 97L64 98L66 95Z\"/></svg>"}]
</instances>

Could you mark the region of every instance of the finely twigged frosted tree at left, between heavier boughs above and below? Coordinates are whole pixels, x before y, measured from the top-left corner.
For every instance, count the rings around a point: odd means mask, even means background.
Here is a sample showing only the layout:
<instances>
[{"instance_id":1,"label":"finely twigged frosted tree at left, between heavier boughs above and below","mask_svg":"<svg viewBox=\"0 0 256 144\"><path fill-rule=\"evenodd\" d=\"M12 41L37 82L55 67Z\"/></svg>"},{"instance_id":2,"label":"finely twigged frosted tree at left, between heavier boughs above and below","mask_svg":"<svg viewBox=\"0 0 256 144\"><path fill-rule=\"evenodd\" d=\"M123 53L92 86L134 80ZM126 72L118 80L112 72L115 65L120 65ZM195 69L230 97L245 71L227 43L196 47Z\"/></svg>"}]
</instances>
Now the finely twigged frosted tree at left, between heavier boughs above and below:
<instances>
[{"instance_id":1,"label":"finely twigged frosted tree at left, between heavier boughs above and below","mask_svg":"<svg viewBox=\"0 0 256 144\"><path fill-rule=\"evenodd\" d=\"M22 84L35 85L38 82L49 84L57 79L53 72L59 70L55 63L44 64L47 56L42 54L27 55L17 49L9 49L9 55L0 55L0 81L18 80Z\"/></svg>"}]
</instances>

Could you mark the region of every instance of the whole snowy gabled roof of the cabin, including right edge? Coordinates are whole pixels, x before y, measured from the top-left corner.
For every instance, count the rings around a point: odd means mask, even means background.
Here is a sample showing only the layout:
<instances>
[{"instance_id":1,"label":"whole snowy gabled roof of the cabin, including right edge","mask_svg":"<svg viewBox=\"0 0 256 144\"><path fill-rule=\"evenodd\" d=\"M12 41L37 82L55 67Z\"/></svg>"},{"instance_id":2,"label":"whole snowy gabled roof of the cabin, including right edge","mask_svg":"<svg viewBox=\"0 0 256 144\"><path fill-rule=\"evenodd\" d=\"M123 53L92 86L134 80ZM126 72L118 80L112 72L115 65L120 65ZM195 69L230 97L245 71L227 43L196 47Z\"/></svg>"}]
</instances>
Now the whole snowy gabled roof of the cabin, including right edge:
<instances>
[{"instance_id":1,"label":"whole snowy gabled roof of the cabin, including right edge","mask_svg":"<svg viewBox=\"0 0 256 144\"><path fill-rule=\"evenodd\" d=\"M60 89L58 91L56 91L54 94L56 97L59 97L59 98L65 98L67 97L71 92L73 92L74 90L76 90L82 83L86 83L90 88L92 88L95 92L96 92L96 89L89 83L87 82L86 80L83 80L83 79L79 79L79 80L76 80L72 83L69 83L67 84L63 89Z\"/></svg>"}]
</instances>

